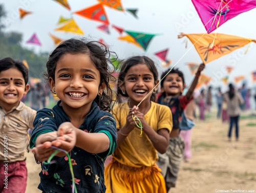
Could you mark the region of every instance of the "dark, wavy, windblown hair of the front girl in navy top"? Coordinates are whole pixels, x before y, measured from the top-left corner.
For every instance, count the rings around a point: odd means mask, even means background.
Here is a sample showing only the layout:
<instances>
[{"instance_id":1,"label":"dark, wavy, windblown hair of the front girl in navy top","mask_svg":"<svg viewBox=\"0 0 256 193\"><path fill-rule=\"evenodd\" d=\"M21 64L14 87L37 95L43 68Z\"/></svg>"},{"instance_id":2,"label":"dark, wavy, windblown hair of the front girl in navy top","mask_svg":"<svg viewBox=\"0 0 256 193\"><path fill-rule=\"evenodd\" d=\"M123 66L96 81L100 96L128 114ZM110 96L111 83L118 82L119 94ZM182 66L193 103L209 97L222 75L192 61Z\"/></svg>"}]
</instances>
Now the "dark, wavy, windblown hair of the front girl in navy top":
<instances>
[{"instance_id":1,"label":"dark, wavy, windblown hair of the front girl in navy top","mask_svg":"<svg viewBox=\"0 0 256 193\"><path fill-rule=\"evenodd\" d=\"M100 73L99 86L103 82L106 85L102 95L97 95L94 101L98 104L100 110L110 112L113 102L113 91L109 83L116 81L115 77L112 76L112 73L115 71L113 62L118 61L116 53L111 52L108 47L101 44L99 41L89 41L85 38L71 38L62 41L51 52L46 63L47 72L44 73L46 81L48 81L50 77L55 81L57 62L65 54L87 54L90 57L92 63Z\"/></svg>"}]
</instances>

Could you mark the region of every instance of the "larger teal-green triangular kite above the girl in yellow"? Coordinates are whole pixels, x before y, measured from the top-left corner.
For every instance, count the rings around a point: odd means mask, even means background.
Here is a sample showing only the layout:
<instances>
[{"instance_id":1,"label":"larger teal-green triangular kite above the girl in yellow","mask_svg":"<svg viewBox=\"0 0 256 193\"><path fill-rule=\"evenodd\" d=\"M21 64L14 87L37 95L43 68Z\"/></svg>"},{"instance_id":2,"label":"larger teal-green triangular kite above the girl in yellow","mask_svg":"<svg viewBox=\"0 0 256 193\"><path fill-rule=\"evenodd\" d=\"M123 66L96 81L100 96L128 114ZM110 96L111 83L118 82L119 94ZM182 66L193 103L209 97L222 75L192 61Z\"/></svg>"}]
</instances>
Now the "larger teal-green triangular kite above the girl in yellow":
<instances>
[{"instance_id":1,"label":"larger teal-green triangular kite above the girl in yellow","mask_svg":"<svg viewBox=\"0 0 256 193\"><path fill-rule=\"evenodd\" d=\"M140 33L140 32L132 32L124 30L127 34L131 35L135 40L140 44L140 46L146 51L148 45L150 44L152 38L156 34L146 34L146 33Z\"/></svg>"}]
</instances>

